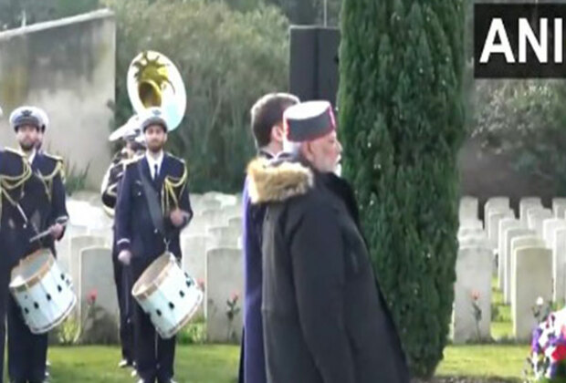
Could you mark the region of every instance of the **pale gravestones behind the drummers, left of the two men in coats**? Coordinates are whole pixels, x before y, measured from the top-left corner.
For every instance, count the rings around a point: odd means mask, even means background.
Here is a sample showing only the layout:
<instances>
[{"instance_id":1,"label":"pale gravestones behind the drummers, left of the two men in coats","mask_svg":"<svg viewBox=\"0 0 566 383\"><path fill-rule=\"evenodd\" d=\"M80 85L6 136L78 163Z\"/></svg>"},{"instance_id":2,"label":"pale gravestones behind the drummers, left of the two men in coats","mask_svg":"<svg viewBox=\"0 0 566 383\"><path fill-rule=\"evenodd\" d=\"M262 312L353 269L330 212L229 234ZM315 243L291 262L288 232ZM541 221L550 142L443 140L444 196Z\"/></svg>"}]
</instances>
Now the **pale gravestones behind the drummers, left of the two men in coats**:
<instances>
[{"instance_id":1,"label":"pale gravestones behind the drummers, left of the two men in coats","mask_svg":"<svg viewBox=\"0 0 566 383\"><path fill-rule=\"evenodd\" d=\"M183 269L204 284L201 313L206 317L208 339L233 340L226 328L241 326L242 310L237 310L239 312L232 320L225 313L227 299L235 293L239 296L243 293L240 200L237 196L221 193L192 195L191 200L194 219L181 237ZM110 254L111 220L102 217L100 207L90 202L69 204L69 215L78 218L71 219L63 241L57 244L58 264L74 281L80 302L77 317L85 315L87 296L96 290L97 305L117 318ZM241 298L236 305L241 308ZM239 336L239 331L235 334Z\"/></svg>"}]
</instances>

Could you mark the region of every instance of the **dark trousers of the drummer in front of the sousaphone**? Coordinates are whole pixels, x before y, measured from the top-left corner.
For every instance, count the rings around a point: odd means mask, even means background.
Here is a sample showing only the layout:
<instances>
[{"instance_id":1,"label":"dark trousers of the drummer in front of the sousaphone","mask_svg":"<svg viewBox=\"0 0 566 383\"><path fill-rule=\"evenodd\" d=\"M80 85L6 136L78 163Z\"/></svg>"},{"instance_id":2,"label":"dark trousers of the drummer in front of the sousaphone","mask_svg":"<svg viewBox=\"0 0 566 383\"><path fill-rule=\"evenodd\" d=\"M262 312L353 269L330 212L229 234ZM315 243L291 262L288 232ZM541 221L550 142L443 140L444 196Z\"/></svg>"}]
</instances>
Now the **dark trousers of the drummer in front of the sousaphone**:
<instances>
[{"instance_id":1,"label":"dark trousers of the drummer in front of the sousaphone","mask_svg":"<svg viewBox=\"0 0 566 383\"><path fill-rule=\"evenodd\" d=\"M131 264L132 281L136 281L149 264L151 262L134 258ZM134 307L134 345L138 375L148 382L155 379L158 382L169 381L173 378L175 337L162 339L155 332L152 320L143 312L142 306L135 302Z\"/></svg>"}]
</instances>

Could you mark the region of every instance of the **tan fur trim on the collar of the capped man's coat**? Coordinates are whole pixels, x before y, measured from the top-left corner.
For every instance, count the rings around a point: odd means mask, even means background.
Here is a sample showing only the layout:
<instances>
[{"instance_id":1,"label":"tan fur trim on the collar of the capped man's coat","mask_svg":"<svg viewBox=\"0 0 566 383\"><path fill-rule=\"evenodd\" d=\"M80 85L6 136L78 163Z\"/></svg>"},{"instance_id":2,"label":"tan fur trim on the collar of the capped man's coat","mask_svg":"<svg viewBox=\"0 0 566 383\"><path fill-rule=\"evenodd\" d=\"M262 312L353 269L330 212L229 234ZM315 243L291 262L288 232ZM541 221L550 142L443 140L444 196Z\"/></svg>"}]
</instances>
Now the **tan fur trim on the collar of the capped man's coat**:
<instances>
[{"instance_id":1,"label":"tan fur trim on the collar of the capped man's coat","mask_svg":"<svg viewBox=\"0 0 566 383\"><path fill-rule=\"evenodd\" d=\"M305 194L314 185L313 172L299 161L258 157L247 165L252 203L282 202Z\"/></svg>"}]
</instances>

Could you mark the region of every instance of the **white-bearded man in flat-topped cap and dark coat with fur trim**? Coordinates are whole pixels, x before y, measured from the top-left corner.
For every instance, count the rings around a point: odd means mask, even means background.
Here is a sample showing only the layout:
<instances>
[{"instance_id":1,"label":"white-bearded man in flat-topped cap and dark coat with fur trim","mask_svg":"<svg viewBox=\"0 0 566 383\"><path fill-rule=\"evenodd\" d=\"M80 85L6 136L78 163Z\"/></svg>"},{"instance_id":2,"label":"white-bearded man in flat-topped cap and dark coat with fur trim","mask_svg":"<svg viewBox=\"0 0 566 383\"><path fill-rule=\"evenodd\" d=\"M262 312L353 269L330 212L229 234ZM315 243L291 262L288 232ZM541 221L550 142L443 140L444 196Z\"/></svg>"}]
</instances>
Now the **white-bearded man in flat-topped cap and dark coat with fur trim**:
<instances>
[{"instance_id":1,"label":"white-bearded man in flat-topped cap and dark coat with fur trim","mask_svg":"<svg viewBox=\"0 0 566 383\"><path fill-rule=\"evenodd\" d=\"M267 382L409 382L353 193L333 173L341 145L330 103L290 107L284 123L286 152L248 167L250 198L267 206Z\"/></svg>"}]
</instances>

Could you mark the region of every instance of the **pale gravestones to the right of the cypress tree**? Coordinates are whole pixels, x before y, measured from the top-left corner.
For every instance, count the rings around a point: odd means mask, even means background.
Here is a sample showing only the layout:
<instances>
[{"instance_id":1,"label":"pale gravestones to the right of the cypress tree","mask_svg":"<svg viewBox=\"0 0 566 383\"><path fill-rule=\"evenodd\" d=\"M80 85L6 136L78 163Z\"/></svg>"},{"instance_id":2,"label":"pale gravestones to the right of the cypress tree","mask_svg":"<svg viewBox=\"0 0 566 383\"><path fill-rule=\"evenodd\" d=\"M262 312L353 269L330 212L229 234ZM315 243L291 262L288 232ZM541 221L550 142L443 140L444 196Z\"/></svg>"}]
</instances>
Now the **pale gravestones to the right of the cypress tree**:
<instances>
[{"instance_id":1,"label":"pale gravestones to the right of the cypress tree","mask_svg":"<svg viewBox=\"0 0 566 383\"><path fill-rule=\"evenodd\" d=\"M506 304L511 305L513 334L528 339L536 324L533 308L539 297L561 301L566 295L566 200L557 198L552 210L538 198L519 202L519 219L508 198L486 203L486 227L477 220L477 199L460 203L456 261L453 336L456 343L489 338L491 275ZM494 262L495 261L495 262ZM477 308L481 310L478 319Z\"/></svg>"}]
</instances>

